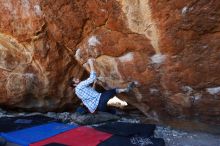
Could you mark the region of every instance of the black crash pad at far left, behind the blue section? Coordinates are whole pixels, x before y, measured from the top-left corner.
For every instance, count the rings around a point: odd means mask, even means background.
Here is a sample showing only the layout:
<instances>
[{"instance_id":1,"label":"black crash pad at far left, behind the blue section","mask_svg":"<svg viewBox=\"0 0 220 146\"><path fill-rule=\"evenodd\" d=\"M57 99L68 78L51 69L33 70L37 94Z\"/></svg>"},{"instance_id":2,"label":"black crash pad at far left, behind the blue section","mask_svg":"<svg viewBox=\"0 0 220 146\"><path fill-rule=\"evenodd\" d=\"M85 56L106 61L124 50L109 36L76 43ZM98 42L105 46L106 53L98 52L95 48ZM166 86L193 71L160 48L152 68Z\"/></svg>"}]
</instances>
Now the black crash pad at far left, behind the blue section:
<instances>
[{"instance_id":1,"label":"black crash pad at far left, behind the blue section","mask_svg":"<svg viewBox=\"0 0 220 146\"><path fill-rule=\"evenodd\" d=\"M18 117L1 117L0 118L0 132L11 132L32 126L45 124L48 122L57 121L54 118L32 115L32 116L18 116Z\"/></svg>"}]
</instances>

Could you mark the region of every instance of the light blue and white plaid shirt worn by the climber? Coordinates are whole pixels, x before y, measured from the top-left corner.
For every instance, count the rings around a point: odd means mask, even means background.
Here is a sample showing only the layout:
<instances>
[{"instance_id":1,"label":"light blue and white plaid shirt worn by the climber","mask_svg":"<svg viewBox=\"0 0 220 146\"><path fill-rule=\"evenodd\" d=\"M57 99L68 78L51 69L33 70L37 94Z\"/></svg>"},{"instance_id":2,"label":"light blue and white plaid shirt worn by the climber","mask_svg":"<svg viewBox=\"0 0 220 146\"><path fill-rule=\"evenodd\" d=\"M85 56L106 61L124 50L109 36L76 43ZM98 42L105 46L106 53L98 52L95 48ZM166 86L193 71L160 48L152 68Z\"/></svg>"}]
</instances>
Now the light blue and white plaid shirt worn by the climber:
<instances>
[{"instance_id":1,"label":"light blue and white plaid shirt worn by the climber","mask_svg":"<svg viewBox=\"0 0 220 146\"><path fill-rule=\"evenodd\" d=\"M91 72L89 78L80 82L75 88L76 95L82 100L83 104L91 113L95 112L101 96L101 93L98 93L90 86L95 80L96 73Z\"/></svg>"}]
</instances>

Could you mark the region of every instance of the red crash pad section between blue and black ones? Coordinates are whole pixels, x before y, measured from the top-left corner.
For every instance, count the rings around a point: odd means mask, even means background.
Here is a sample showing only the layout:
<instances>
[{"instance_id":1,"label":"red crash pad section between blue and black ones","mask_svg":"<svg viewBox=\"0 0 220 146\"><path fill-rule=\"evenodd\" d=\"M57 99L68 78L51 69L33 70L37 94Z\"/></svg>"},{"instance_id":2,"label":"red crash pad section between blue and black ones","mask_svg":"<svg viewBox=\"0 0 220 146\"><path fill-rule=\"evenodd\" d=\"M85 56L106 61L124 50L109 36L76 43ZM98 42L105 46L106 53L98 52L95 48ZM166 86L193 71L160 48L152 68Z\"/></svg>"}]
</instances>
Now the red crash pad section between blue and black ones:
<instances>
[{"instance_id":1,"label":"red crash pad section between blue and black ones","mask_svg":"<svg viewBox=\"0 0 220 146\"><path fill-rule=\"evenodd\" d=\"M111 136L111 134L97 131L94 128L82 126L33 143L30 146L44 146L51 143L68 146L96 146Z\"/></svg>"}]
</instances>

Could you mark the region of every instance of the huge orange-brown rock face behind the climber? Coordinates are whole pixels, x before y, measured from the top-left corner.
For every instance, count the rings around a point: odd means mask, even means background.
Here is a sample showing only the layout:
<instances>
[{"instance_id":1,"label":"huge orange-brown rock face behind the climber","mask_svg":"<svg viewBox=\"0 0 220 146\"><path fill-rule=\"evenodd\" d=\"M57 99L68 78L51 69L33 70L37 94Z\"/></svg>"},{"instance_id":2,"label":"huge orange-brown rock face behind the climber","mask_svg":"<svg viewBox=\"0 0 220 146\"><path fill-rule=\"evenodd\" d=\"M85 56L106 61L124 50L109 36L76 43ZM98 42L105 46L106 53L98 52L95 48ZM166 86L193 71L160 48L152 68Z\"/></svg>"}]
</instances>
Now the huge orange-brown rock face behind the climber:
<instances>
[{"instance_id":1,"label":"huge orange-brown rock face behind the climber","mask_svg":"<svg viewBox=\"0 0 220 146\"><path fill-rule=\"evenodd\" d=\"M139 82L125 99L154 113L220 124L217 0L2 0L0 104L74 106L66 84L96 59L104 88Z\"/></svg>"}]
</instances>

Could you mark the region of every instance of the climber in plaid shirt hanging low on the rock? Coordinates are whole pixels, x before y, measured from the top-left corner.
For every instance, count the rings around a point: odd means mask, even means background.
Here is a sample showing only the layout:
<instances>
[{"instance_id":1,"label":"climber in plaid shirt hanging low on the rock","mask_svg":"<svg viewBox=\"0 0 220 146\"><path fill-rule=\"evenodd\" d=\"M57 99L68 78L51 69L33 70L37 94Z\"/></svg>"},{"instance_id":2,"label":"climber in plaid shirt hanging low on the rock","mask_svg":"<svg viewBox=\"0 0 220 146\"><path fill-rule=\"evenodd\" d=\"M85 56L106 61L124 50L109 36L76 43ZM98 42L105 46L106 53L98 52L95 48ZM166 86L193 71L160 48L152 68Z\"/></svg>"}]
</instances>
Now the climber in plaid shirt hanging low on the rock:
<instances>
[{"instance_id":1,"label":"climber in plaid shirt hanging low on the rock","mask_svg":"<svg viewBox=\"0 0 220 146\"><path fill-rule=\"evenodd\" d=\"M70 87L75 90L75 94L82 101L83 105L87 107L89 112L111 112L110 109L107 107L107 102L118 93L129 92L135 86L135 82L130 82L127 88L114 88L106 90L103 93L96 91L91 86L91 84L94 83L97 78L94 69L94 61L95 59L93 58L88 59L88 65L90 69L90 76L88 79L80 81L80 79L78 78L71 77L68 83Z\"/></svg>"}]
</instances>

